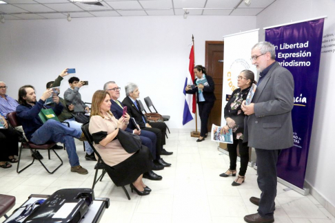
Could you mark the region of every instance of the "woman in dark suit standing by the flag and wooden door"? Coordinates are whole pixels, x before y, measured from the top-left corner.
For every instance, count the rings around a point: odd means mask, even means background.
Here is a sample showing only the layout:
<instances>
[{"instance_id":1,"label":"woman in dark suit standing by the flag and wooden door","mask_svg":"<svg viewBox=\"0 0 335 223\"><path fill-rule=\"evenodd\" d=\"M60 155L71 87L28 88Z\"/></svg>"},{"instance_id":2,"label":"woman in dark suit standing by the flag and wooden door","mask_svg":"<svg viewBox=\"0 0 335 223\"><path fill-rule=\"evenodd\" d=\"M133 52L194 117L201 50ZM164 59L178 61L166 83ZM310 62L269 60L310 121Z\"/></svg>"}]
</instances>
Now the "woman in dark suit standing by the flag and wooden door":
<instances>
[{"instance_id":1,"label":"woman in dark suit standing by the flag and wooden door","mask_svg":"<svg viewBox=\"0 0 335 223\"><path fill-rule=\"evenodd\" d=\"M194 67L194 74L196 76L194 85L187 85L185 92L186 94L196 94L196 103L198 103L201 120L200 137L196 142L201 142L207 137L208 117L216 98L214 95L214 81L211 76L207 75L206 68L202 65L196 65Z\"/></svg>"}]
</instances>

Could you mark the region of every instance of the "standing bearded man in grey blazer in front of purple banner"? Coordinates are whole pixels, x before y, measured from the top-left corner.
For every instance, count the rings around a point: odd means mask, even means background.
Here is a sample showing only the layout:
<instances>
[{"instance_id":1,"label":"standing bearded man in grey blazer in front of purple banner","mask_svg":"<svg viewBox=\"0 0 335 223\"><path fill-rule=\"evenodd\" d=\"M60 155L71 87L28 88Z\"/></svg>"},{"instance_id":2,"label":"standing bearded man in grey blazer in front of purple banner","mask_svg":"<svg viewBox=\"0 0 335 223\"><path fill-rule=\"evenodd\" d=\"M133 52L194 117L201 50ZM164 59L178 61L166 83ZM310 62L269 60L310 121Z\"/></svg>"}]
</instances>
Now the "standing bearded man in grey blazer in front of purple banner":
<instances>
[{"instance_id":1,"label":"standing bearded man in grey blazer in front of purple banner","mask_svg":"<svg viewBox=\"0 0 335 223\"><path fill-rule=\"evenodd\" d=\"M252 103L242 103L247 115L244 142L256 150L257 182L262 193L261 198L250 198L250 202L259 206L258 212L246 215L244 220L267 223L274 222L278 155L281 149L293 146L294 80L291 72L275 61L276 52L271 43L254 45L251 59L260 74Z\"/></svg>"}]
</instances>

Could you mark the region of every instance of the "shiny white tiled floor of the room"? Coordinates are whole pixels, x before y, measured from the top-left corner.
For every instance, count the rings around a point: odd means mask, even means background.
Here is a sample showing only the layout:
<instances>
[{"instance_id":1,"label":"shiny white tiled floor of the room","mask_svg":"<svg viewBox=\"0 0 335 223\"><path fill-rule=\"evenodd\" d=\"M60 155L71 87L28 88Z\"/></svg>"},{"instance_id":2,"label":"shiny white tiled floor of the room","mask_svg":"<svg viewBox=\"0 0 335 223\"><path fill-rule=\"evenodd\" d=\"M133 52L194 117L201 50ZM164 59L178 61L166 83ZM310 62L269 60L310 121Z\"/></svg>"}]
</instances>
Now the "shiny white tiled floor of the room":
<instances>
[{"instance_id":1,"label":"shiny white tiled floor of the room","mask_svg":"<svg viewBox=\"0 0 335 223\"><path fill-rule=\"evenodd\" d=\"M172 167L156 171L163 176L157 182L145 180L152 193L140 197L130 193L128 200L119 187L115 187L105 176L94 193L97 197L110 198L110 208L105 210L101 222L244 222L243 216L256 213L257 206L249 201L251 196L259 196L256 171L247 169L245 183L232 187L234 178L221 178L220 173L228 169L229 158L217 150L216 142L206 139L196 142L190 133L174 131L168 135L167 151L172 156L163 156ZM16 209L31 193L51 194L58 189L92 187L93 167L96 162L84 159L82 143L77 144L81 165L89 170L81 176L70 172L67 153L58 150L64 161L63 166L54 174L47 173L39 162L17 174L14 164L11 169L0 169L0 193L17 198ZM47 160L48 167L56 167L57 160ZM29 162L30 153L23 153ZM239 168L239 167L238 167ZM286 187L278 183L275 222L283 223L335 223L335 217L321 206L311 195L303 196L295 191L283 191ZM13 209L13 210L14 210ZM4 218L0 219L3 222Z\"/></svg>"}]
</instances>

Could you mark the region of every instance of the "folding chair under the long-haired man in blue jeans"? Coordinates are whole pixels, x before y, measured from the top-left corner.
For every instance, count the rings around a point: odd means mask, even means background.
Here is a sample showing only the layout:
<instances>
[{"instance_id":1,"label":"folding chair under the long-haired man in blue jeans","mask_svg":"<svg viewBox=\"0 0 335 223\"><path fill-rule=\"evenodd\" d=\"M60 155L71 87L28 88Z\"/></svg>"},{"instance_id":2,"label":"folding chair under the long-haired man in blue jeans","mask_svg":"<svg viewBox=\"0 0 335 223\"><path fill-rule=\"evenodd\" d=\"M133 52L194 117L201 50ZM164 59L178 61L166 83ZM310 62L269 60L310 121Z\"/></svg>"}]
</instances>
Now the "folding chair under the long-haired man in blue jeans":
<instances>
[{"instance_id":1,"label":"folding chair under the long-haired man in blue jeans","mask_svg":"<svg viewBox=\"0 0 335 223\"><path fill-rule=\"evenodd\" d=\"M10 125L12 125L13 128L18 127L18 126L21 125L21 123L17 119L17 112L16 111L8 113L7 114L7 118L8 118L8 121L9 121ZM26 166L23 169L19 170L22 149L30 149L30 151L32 153L35 153L37 149L44 149L44 150L47 149L48 150L48 154L49 154L49 159L50 159L50 149L52 151L54 151L54 149L52 149L52 147L54 145L56 145L56 142L48 142L48 143L45 143L43 145L36 145L36 144L34 144L34 143L29 142L28 140L26 140L26 137L23 136L23 133L21 133L20 131L17 131L17 133L20 134L20 139L21 139L21 146L20 146L20 149L19 149L19 162L17 162L17 173L21 173L22 171L24 171L25 169L27 169L28 167L30 167L34 163L34 160L35 160L35 158L33 156L32 162L30 164L28 164L28 166ZM26 145L26 147L28 147L28 148L23 147L23 145ZM58 156L57 152L54 151L54 153L59 158L59 160L61 160L61 158ZM54 173L55 171L57 171L57 169L59 169L59 167L61 167L61 165L63 165L63 160L61 160L61 164L56 169L54 169L54 171L50 172L49 169L45 167L45 165L43 164L43 162L41 160L39 160L39 162L41 162L41 164L44 167L44 169L46 171L48 171L48 173L51 173L51 174Z\"/></svg>"}]
</instances>

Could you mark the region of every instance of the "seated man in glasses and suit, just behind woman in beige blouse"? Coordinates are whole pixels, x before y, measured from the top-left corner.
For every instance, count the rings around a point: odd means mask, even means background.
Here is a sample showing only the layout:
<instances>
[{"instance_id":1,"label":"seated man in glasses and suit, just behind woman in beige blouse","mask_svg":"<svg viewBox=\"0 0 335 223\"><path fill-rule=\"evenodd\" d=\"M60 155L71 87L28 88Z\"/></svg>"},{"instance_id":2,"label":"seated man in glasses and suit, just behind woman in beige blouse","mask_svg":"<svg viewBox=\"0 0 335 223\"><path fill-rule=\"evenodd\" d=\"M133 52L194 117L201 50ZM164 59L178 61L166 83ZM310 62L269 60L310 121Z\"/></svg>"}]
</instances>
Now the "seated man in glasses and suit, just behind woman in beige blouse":
<instances>
[{"instance_id":1,"label":"seated man in glasses and suit, just behind woman in beige blouse","mask_svg":"<svg viewBox=\"0 0 335 223\"><path fill-rule=\"evenodd\" d=\"M119 100L117 100L120 97L120 87L118 87L118 85L116 85L114 81L109 81L108 83L105 83L105 85L103 85L103 89L110 94L110 102L112 103L112 105L110 106L110 111L112 111L112 114L116 119L121 118L121 116L123 115L123 104L119 102ZM130 118L128 114L126 114L126 116ZM141 129L138 131L132 125L131 121L129 122L128 127L125 129L125 131L139 135L142 144L150 149L152 156L154 157L154 160L157 160L157 158L158 159L161 158L159 155L157 155L156 135L154 133L152 133L151 131L144 131L144 130L142 131ZM152 164L152 170L161 170L161 169L164 169L163 165L154 163ZM161 176L157 175L153 171L143 173L143 178L148 178L150 180L162 179Z\"/></svg>"}]
</instances>

